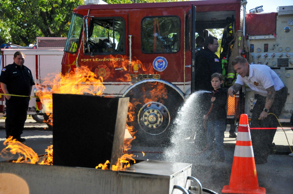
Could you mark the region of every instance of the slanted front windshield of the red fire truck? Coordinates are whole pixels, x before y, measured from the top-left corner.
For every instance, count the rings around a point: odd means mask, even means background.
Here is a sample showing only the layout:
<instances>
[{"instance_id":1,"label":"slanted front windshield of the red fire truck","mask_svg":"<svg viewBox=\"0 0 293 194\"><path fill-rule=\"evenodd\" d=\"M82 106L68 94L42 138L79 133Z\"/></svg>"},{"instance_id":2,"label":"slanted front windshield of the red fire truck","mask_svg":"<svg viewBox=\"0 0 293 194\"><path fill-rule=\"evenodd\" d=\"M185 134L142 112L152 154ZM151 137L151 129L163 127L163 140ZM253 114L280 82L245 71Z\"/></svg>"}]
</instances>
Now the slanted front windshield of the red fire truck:
<instances>
[{"instance_id":1,"label":"slanted front windshield of the red fire truck","mask_svg":"<svg viewBox=\"0 0 293 194\"><path fill-rule=\"evenodd\" d=\"M79 46L80 34L82 30L83 20L78 15L73 15L71 19L70 29L67 36L64 51L76 53Z\"/></svg>"}]
</instances>

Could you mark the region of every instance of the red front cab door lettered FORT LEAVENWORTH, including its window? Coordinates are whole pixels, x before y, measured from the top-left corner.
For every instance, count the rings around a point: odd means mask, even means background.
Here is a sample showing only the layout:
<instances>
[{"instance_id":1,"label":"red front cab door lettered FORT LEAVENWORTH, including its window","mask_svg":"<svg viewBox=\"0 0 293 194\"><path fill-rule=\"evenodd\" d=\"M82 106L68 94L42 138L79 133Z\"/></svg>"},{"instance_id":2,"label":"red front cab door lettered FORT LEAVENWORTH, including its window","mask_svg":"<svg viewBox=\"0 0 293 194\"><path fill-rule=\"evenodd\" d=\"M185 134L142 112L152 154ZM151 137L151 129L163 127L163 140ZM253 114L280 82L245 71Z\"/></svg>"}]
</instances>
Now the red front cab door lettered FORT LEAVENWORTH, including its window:
<instances>
[{"instance_id":1,"label":"red front cab door lettered FORT LEAVENWORTH, including its window","mask_svg":"<svg viewBox=\"0 0 293 194\"><path fill-rule=\"evenodd\" d=\"M88 50L82 61L104 82L127 80L128 14L89 14ZM93 17L92 17L93 16Z\"/></svg>"}]
</instances>

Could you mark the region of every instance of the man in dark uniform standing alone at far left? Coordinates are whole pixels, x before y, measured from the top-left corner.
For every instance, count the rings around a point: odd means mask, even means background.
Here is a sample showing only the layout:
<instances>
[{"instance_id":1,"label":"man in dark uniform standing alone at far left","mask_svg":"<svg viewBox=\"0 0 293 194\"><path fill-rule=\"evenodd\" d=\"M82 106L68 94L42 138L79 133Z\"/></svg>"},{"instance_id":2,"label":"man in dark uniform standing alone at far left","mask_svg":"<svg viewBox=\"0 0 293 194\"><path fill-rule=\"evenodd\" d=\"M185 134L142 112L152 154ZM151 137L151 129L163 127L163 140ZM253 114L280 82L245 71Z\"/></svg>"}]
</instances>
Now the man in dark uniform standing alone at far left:
<instances>
[{"instance_id":1,"label":"man in dark uniform standing alone at far left","mask_svg":"<svg viewBox=\"0 0 293 194\"><path fill-rule=\"evenodd\" d=\"M13 136L13 139L20 142L25 141L25 138L21 138L21 134L27 118L27 110L30 101L29 96L33 85L35 85L32 72L28 67L23 65L24 59L25 55L22 52L18 51L14 53L14 63L5 66L0 75L0 83L3 92L5 94L20 95L5 95L6 138Z\"/></svg>"}]
</instances>

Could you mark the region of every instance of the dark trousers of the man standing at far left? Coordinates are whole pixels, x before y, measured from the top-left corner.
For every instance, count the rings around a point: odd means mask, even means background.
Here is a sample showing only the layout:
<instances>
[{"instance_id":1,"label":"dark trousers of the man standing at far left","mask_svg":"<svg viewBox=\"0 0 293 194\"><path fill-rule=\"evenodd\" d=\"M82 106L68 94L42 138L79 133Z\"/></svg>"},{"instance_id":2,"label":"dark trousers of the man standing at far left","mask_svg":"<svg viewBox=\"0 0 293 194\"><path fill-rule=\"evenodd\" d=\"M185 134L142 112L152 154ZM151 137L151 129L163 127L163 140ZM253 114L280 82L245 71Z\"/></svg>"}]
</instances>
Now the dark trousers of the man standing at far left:
<instances>
[{"instance_id":1,"label":"dark trousers of the man standing at far left","mask_svg":"<svg viewBox=\"0 0 293 194\"><path fill-rule=\"evenodd\" d=\"M9 100L5 99L6 138L9 136L13 136L13 138L20 138L24 129L24 123L27 118L29 101L30 101L29 97L18 97L18 96L11 96Z\"/></svg>"}]
</instances>

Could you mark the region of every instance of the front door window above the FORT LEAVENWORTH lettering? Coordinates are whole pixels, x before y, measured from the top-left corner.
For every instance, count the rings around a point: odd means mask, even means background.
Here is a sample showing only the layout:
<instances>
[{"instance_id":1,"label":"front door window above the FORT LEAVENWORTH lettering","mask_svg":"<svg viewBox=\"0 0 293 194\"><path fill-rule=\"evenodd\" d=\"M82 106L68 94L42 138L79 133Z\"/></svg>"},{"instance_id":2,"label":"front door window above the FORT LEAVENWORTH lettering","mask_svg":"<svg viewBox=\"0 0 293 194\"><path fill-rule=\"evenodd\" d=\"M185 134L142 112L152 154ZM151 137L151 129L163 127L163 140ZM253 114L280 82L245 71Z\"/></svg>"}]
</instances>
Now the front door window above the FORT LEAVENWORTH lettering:
<instances>
[{"instance_id":1,"label":"front door window above the FORT LEAVENWORTH lettering","mask_svg":"<svg viewBox=\"0 0 293 194\"><path fill-rule=\"evenodd\" d=\"M125 22L122 18L94 19L89 24L89 53L124 54Z\"/></svg>"}]
</instances>

